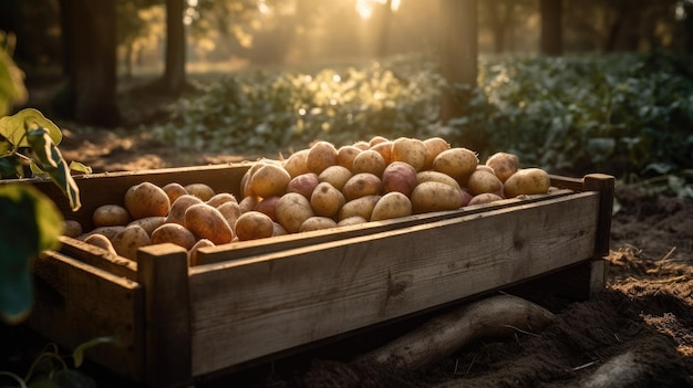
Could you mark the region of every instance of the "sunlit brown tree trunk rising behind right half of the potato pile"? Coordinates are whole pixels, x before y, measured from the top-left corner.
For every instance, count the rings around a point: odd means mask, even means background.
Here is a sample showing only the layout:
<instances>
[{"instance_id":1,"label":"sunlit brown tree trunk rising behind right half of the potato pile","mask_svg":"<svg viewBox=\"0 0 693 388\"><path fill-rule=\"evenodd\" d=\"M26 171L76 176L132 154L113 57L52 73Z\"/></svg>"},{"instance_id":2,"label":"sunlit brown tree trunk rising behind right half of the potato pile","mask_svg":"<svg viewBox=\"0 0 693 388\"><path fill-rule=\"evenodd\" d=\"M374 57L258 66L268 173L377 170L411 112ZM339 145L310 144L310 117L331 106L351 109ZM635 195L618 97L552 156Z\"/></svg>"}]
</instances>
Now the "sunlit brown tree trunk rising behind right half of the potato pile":
<instances>
[{"instance_id":1,"label":"sunlit brown tree trunk rising behind right half of the potato pile","mask_svg":"<svg viewBox=\"0 0 693 388\"><path fill-rule=\"evenodd\" d=\"M477 86L477 4L476 0L441 0L441 73L451 87L443 90L441 119L464 116Z\"/></svg>"}]
</instances>

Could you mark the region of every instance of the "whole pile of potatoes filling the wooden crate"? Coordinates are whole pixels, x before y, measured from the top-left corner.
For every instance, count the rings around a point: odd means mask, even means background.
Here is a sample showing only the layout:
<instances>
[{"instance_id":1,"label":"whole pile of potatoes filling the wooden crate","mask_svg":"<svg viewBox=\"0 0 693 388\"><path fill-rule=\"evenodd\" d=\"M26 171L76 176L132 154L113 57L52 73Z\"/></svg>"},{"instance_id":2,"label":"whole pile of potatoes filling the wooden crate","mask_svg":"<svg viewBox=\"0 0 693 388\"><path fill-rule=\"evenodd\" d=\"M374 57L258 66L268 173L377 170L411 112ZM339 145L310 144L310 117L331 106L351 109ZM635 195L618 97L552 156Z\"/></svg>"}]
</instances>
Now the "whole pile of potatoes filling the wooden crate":
<instances>
[{"instance_id":1,"label":"whole pile of potatoes filling the wooden crate","mask_svg":"<svg viewBox=\"0 0 693 388\"><path fill-rule=\"evenodd\" d=\"M285 160L258 160L240 187L238 200L204 183L142 182L123 206L97 208L94 230L81 233L68 221L65 234L132 260L141 247L170 242L188 250L195 265L200 247L546 193L550 179L541 169L520 169L507 153L479 164L476 153L439 137L376 136L340 148L317 141Z\"/></svg>"}]
</instances>

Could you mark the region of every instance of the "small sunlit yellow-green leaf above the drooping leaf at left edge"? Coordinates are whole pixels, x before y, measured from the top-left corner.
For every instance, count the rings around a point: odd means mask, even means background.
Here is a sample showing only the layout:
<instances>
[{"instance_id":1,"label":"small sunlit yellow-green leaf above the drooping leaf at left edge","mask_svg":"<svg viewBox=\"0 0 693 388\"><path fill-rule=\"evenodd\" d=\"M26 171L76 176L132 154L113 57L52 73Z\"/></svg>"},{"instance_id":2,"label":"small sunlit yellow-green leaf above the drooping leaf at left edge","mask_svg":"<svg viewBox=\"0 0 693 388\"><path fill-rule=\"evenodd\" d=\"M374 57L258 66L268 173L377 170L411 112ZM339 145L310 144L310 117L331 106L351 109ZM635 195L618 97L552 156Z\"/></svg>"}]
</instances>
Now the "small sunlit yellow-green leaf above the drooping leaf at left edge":
<instances>
[{"instance_id":1,"label":"small sunlit yellow-green leaf above the drooping leaf at left edge","mask_svg":"<svg viewBox=\"0 0 693 388\"><path fill-rule=\"evenodd\" d=\"M62 140L60 128L34 108L24 108L12 116L0 118L0 136L15 148L29 147L27 133L38 128L44 128L54 145L59 145Z\"/></svg>"}]
</instances>

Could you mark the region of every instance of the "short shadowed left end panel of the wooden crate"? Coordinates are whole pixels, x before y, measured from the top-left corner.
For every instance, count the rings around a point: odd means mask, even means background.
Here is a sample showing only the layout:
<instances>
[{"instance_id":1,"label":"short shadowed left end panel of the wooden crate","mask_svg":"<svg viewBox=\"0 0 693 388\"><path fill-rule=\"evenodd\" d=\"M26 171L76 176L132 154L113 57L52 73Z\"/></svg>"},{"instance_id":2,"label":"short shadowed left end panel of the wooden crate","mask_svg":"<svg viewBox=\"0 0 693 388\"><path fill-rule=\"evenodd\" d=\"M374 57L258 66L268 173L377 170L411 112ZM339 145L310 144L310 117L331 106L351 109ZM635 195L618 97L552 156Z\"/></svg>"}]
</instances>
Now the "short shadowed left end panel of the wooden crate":
<instances>
[{"instance_id":1,"label":"short shadowed left end panel of the wooden crate","mask_svg":"<svg viewBox=\"0 0 693 388\"><path fill-rule=\"evenodd\" d=\"M143 376L144 290L60 253L48 252L32 266L35 300L28 325L66 349L96 338L115 337L85 356L139 381Z\"/></svg>"}]
</instances>

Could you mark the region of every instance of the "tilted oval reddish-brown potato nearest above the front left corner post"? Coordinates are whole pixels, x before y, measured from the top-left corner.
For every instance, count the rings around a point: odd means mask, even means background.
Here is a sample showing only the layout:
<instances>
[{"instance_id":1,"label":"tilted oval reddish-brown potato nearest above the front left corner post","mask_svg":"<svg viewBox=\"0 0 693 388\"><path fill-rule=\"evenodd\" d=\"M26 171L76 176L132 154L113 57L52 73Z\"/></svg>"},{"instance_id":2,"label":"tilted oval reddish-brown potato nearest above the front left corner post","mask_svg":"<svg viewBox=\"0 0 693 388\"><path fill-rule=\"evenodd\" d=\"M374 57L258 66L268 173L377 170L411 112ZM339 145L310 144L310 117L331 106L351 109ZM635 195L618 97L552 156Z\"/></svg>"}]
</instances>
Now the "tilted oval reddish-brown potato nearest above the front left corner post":
<instances>
[{"instance_id":1,"label":"tilted oval reddish-brown potato nearest above the front left corner post","mask_svg":"<svg viewBox=\"0 0 693 388\"><path fill-rule=\"evenodd\" d=\"M185 227L197 239L225 244L234 239L234 231L221 212L207 203L196 203L185 211Z\"/></svg>"}]
</instances>

